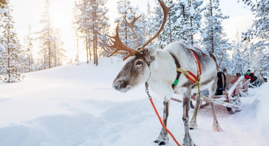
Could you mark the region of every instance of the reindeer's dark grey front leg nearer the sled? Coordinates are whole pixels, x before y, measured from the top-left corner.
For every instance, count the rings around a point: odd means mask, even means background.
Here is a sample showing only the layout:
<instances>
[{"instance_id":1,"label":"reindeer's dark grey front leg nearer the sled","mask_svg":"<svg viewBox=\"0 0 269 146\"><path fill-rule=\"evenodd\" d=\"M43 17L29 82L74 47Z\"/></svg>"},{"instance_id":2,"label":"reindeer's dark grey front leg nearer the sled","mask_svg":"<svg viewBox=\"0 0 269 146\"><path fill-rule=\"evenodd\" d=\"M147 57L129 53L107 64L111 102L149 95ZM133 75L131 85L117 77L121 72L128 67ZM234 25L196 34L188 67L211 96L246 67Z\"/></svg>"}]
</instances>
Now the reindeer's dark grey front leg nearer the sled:
<instances>
[{"instance_id":1,"label":"reindeer's dark grey front leg nearer the sled","mask_svg":"<svg viewBox=\"0 0 269 146\"><path fill-rule=\"evenodd\" d=\"M189 110L190 110L190 97L191 97L191 89L188 88L185 92L183 92L183 123L185 128L185 136L183 140L182 146L195 146L193 144L193 141L191 139L190 133L189 133Z\"/></svg>"}]
</instances>

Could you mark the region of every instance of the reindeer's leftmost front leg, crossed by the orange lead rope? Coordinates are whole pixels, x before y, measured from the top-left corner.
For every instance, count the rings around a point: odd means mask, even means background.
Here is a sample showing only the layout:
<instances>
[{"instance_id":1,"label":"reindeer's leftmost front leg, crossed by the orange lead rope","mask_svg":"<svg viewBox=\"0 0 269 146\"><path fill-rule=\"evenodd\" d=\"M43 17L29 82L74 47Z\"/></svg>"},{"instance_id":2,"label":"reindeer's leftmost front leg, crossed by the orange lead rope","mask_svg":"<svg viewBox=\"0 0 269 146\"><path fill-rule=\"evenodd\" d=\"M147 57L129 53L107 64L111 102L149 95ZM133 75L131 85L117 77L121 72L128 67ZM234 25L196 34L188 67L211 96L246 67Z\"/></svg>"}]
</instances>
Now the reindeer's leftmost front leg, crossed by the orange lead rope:
<instances>
[{"instance_id":1,"label":"reindeer's leftmost front leg, crossed by the orange lead rope","mask_svg":"<svg viewBox=\"0 0 269 146\"><path fill-rule=\"evenodd\" d=\"M166 127L167 126L167 119L169 115L169 103L170 100L163 102L163 124ZM168 135L164 128L161 128L160 134L154 143L157 143L159 146L165 145L165 141L168 141Z\"/></svg>"}]
</instances>

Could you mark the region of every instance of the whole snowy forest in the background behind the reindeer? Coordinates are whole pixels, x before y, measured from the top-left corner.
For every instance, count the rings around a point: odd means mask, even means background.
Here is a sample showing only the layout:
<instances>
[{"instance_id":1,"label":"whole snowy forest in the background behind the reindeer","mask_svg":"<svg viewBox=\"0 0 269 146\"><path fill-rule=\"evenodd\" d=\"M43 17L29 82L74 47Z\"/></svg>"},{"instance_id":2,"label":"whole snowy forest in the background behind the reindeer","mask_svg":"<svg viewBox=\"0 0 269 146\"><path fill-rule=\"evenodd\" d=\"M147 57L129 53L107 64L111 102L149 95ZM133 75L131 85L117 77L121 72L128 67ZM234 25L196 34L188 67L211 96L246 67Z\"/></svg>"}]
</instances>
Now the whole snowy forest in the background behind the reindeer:
<instances>
[{"instance_id":1,"label":"whole snowy forest in the background behind the reindeer","mask_svg":"<svg viewBox=\"0 0 269 146\"><path fill-rule=\"evenodd\" d=\"M42 0L41 0L42 1ZM155 5L147 4L146 13L129 0L116 0L119 36L122 42L131 48L135 46L135 36L126 22L141 17L134 25L134 30L141 37L139 45L156 34L162 23L162 10L157 0ZM237 1L237 0L236 0ZM31 24L23 40L19 40L12 17L13 8L10 0L0 0L0 80L7 83L20 81L22 73L35 72L77 63L82 57L79 45L90 61L98 66L98 58L107 57L103 42L108 42L115 29L110 24L110 8L107 0L74 0L72 29L76 37L76 57L67 60L67 48L63 48L61 28L53 26L50 12L50 0L44 0L43 15L40 16L42 29L33 32ZM238 0L255 16L246 32L237 32L235 41L228 41L223 28L223 20L229 19L220 8L220 0L164 0L169 11L166 24L160 35L151 44L158 43L163 49L171 42L180 41L190 47L201 48L214 54L218 62L228 73L244 73L251 69L258 76L269 73L269 2L268 0ZM126 18L126 21L125 19ZM38 37L33 37L38 36ZM38 41L39 46L34 46ZM82 44L79 41L83 42ZM151 45L150 44L150 45ZM38 57L33 50L38 48ZM124 55L116 55L124 57ZM222 60L222 61L221 61ZM83 60L84 61L84 60Z\"/></svg>"}]
</instances>

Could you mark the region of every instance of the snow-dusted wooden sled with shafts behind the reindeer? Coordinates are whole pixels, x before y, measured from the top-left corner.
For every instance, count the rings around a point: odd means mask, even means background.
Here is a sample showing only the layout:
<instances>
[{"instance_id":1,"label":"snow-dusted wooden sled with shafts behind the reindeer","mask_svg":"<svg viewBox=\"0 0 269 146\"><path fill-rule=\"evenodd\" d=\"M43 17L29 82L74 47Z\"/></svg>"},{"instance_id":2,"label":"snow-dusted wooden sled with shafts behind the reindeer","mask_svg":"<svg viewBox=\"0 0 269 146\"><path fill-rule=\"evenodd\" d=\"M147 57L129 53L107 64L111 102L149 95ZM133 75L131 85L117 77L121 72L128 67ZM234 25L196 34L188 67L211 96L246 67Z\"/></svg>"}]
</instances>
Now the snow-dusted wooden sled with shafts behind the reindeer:
<instances>
[{"instance_id":1,"label":"snow-dusted wooden sled with shafts behind the reindeer","mask_svg":"<svg viewBox=\"0 0 269 146\"><path fill-rule=\"evenodd\" d=\"M230 113L241 110L241 100L239 97L247 96L247 89L250 79L244 79L244 76L225 75L226 87L221 95L215 95L214 98L208 98L208 91L201 91L201 97L198 94L191 96L190 107L194 109L196 98L202 98L200 109L207 106L210 102L220 104L226 107Z\"/></svg>"}]
</instances>

